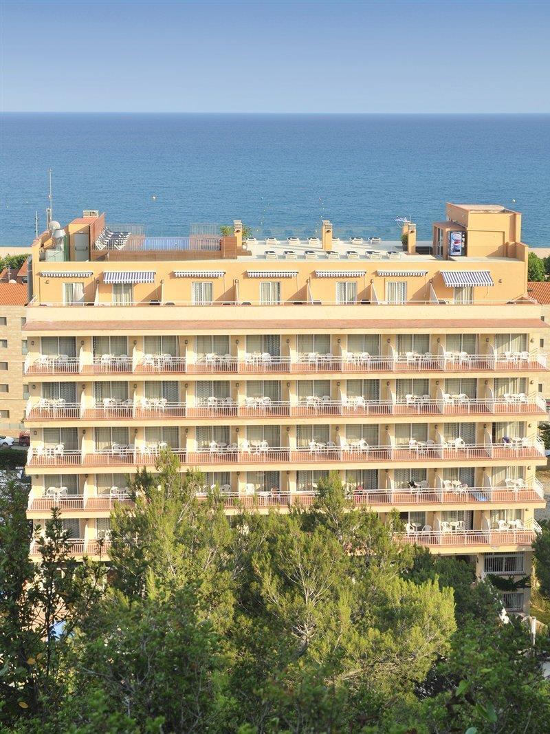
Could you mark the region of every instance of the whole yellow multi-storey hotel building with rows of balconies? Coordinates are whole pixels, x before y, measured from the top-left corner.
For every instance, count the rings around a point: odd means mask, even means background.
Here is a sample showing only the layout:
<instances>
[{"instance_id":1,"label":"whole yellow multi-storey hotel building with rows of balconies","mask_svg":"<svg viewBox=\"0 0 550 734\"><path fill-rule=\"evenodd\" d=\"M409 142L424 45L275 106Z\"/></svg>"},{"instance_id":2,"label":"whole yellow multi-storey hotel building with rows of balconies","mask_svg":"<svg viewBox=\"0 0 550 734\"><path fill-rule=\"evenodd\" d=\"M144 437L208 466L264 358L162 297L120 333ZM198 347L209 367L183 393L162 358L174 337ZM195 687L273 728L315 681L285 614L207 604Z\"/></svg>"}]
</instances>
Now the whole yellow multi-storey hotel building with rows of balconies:
<instances>
[{"instance_id":1,"label":"whole yellow multi-storey hotel building with rows of balconies","mask_svg":"<svg viewBox=\"0 0 550 734\"><path fill-rule=\"evenodd\" d=\"M32 245L29 519L59 506L76 555L106 557L112 507L167 447L228 513L307 505L337 471L356 506L400 512L400 542L530 573L547 326L521 214L449 203L423 246L411 222L402 245L84 215Z\"/></svg>"}]
</instances>

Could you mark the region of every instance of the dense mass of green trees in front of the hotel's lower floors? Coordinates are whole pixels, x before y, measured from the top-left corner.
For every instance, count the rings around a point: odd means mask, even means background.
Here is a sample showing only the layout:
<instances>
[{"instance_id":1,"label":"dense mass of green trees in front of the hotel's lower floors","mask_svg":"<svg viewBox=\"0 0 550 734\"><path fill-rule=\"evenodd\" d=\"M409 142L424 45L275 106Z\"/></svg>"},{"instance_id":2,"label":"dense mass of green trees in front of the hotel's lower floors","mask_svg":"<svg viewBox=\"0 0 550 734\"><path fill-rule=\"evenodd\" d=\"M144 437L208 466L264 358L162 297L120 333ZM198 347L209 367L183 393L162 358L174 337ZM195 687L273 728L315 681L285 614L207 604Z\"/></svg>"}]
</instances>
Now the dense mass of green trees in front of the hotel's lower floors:
<instances>
[{"instance_id":1,"label":"dense mass of green trees in front of the hotel's lower floors","mask_svg":"<svg viewBox=\"0 0 550 734\"><path fill-rule=\"evenodd\" d=\"M496 590L465 562L397 544L397 515L350 512L334 476L307 510L228 518L171 455L158 472L111 517L104 587L97 565L67 558L57 515L30 564L26 498L5 498L7 731L547 731L548 639L533 651L501 625Z\"/></svg>"}]
</instances>

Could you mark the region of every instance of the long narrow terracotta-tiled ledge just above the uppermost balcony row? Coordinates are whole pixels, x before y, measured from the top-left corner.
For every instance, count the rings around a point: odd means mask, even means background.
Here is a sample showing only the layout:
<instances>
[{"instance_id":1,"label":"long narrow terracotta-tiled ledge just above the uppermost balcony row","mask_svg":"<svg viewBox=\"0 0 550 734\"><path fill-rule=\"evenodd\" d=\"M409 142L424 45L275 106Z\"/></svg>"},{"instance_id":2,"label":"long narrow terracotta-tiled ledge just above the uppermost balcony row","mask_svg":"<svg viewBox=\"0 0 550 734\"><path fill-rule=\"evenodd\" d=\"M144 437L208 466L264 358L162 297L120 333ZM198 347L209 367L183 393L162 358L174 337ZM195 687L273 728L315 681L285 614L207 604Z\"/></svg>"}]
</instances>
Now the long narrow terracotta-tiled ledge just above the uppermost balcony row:
<instances>
[{"instance_id":1,"label":"long narrow terracotta-tiled ledge just above the uppermost balcony row","mask_svg":"<svg viewBox=\"0 0 550 734\"><path fill-rule=\"evenodd\" d=\"M177 331L193 333L194 331L235 331L242 333L250 331L290 331L292 333L296 329L309 329L315 331L345 331L348 329L361 329L364 331L380 331L380 330L410 330L424 329L433 331L441 329L460 330L460 329L476 329L480 332L487 333L495 329L530 329L541 330L549 329L550 324L545 324L540 319L323 319L323 322L315 321L315 319L285 319L280 321L244 321L243 319L234 319L232 321L220 321L219 319L204 319L201 321L191 321L191 319L180 319L167 321L151 320L151 321L27 321L23 330L32 333L42 331L71 331L78 334L98 331L117 332L123 330L125 333L144 331Z\"/></svg>"}]
</instances>

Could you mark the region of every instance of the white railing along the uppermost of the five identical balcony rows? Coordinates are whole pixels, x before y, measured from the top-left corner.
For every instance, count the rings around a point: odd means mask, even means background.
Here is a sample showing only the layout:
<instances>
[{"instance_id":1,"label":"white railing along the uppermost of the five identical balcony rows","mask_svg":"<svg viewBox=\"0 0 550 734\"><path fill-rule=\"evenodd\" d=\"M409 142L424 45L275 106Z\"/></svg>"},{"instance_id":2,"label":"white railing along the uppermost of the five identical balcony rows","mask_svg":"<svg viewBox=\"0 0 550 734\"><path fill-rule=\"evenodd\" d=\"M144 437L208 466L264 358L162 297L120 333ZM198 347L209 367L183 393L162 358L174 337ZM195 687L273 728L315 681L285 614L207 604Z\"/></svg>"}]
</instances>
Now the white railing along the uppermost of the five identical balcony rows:
<instances>
[{"instance_id":1,"label":"white railing along the uppermost of the five identical balcony rows","mask_svg":"<svg viewBox=\"0 0 550 734\"><path fill-rule=\"evenodd\" d=\"M523 355L523 356L521 356ZM327 374L417 372L463 373L474 371L541 371L546 359L539 352L505 355L347 355L301 354L294 360L275 355L211 355L192 361L174 355L98 355L87 364L79 357L43 355L25 360L25 374Z\"/></svg>"}]
</instances>

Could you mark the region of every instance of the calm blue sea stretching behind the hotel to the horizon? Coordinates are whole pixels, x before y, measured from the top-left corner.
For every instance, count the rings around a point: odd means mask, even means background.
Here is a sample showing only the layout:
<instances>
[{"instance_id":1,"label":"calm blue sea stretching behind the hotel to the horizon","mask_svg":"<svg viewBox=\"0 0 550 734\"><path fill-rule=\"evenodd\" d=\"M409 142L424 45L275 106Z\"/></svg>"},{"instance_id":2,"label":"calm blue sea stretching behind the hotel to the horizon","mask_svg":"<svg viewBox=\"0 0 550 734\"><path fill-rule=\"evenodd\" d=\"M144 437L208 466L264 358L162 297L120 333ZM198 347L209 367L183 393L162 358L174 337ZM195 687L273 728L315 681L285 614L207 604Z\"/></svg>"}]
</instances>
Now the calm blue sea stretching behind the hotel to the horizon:
<instances>
[{"instance_id":1,"label":"calm blue sea stretching behind the hotel to the horizon","mask_svg":"<svg viewBox=\"0 0 550 734\"><path fill-rule=\"evenodd\" d=\"M524 214L523 239L550 245L550 115L20 115L1 117L0 243L84 208L148 235L242 219L273 233L419 238L444 203L502 203ZM155 199L153 199L155 197ZM516 200L513 203L513 200Z\"/></svg>"}]
</instances>

